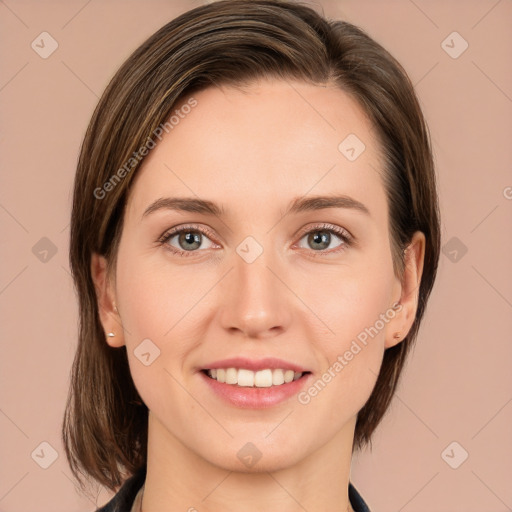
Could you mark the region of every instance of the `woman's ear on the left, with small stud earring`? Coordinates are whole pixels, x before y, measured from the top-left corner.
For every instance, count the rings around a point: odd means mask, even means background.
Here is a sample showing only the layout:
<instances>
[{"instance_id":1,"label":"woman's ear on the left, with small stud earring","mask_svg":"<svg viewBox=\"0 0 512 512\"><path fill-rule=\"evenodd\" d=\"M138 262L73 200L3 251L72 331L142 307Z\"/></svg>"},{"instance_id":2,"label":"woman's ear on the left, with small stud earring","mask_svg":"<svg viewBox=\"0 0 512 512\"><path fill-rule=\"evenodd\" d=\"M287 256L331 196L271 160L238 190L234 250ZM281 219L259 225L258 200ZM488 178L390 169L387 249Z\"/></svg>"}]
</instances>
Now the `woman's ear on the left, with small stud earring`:
<instances>
[{"instance_id":1,"label":"woman's ear on the left, with small stud earring","mask_svg":"<svg viewBox=\"0 0 512 512\"><path fill-rule=\"evenodd\" d=\"M124 345L123 326L117 311L115 287L108 275L107 260L104 256L93 253L91 275L96 289L98 312L105 331L105 339L111 347L121 347Z\"/></svg>"}]
</instances>

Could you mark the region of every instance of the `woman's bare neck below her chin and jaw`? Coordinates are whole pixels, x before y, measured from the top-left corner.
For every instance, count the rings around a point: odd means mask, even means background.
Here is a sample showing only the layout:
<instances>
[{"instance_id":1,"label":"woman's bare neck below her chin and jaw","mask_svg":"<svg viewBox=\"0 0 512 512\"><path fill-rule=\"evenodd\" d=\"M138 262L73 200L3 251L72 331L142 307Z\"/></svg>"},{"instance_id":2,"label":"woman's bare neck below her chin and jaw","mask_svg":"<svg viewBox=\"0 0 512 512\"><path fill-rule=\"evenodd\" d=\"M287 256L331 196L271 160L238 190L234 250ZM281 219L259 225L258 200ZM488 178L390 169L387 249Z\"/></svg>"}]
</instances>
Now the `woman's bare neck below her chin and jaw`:
<instances>
[{"instance_id":1,"label":"woman's bare neck below her chin and jaw","mask_svg":"<svg viewBox=\"0 0 512 512\"><path fill-rule=\"evenodd\" d=\"M270 462L268 457L267 466L258 463L243 472L201 457L150 413L141 510L352 512L348 484L354 426L355 418L327 444L293 465Z\"/></svg>"}]
</instances>

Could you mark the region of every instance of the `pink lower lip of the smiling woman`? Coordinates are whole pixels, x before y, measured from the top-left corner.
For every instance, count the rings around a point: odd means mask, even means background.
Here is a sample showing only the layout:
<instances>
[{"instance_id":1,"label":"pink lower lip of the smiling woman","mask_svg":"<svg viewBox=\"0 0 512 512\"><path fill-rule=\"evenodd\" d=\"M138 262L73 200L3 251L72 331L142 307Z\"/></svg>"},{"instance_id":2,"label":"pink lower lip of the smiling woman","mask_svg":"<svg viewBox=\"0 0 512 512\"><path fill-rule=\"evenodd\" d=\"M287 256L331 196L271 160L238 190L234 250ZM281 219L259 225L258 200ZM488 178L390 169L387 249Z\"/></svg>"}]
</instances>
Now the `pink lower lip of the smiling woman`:
<instances>
[{"instance_id":1,"label":"pink lower lip of the smiling woman","mask_svg":"<svg viewBox=\"0 0 512 512\"><path fill-rule=\"evenodd\" d=\"M255 388L225 384L208 377L204 372L199 373L214 393L232 405L243 409L265 409L278 405L299 393L310 377L312 377L311 373L307 373L300 379L281 384L280 386Z\"/></svg>"}]
</instances>

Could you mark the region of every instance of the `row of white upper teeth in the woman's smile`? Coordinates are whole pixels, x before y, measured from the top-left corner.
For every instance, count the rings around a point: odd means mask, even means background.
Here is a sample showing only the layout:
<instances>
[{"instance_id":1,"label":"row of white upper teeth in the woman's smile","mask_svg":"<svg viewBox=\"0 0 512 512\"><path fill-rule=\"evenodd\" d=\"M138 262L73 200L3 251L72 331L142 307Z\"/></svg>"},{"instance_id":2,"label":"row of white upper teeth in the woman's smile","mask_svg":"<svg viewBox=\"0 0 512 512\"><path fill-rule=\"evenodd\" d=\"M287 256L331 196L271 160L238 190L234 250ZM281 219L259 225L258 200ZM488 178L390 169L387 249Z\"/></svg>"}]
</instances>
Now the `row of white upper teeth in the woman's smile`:
<instances>
[{"instance_id":1,"label":"row of white upper teeth in the woman's smile","mask_svg":"<svg viewBox=\"0 0 512 512\"><path fill-rule=\"evenodd\" d=\"M280 386L288 384L302 377L301 372L293 370L259 370L253 372L245 368L216 368L208 370L208 375L218 382L234 384L242 387L269 388L271 386Z\"/></svg>"}]
</instances>

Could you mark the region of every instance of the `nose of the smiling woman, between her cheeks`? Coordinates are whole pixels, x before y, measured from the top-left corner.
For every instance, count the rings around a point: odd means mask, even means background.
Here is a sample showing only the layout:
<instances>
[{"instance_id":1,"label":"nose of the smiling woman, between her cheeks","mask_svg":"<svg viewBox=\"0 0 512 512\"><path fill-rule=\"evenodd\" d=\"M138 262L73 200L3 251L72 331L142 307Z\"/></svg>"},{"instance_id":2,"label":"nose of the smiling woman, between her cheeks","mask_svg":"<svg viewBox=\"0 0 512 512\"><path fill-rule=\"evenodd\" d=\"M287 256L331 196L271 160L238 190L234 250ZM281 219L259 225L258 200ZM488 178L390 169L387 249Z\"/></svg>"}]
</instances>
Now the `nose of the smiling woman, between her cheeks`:
<instances>
[{"instance_id":1,"label":"nose of the smiling woman, between her cheeks","mask_svg":"<svg viewBox=\"0 0 512 512\"><path fill-rule=\"evenodd\" d=\"M270 338L288 329L293 294L269 254L263 251L251 263L237 253L233 255L234 268L223 282L220 299L220 320L229 334Z\"/></svg>"}]
</instances>

